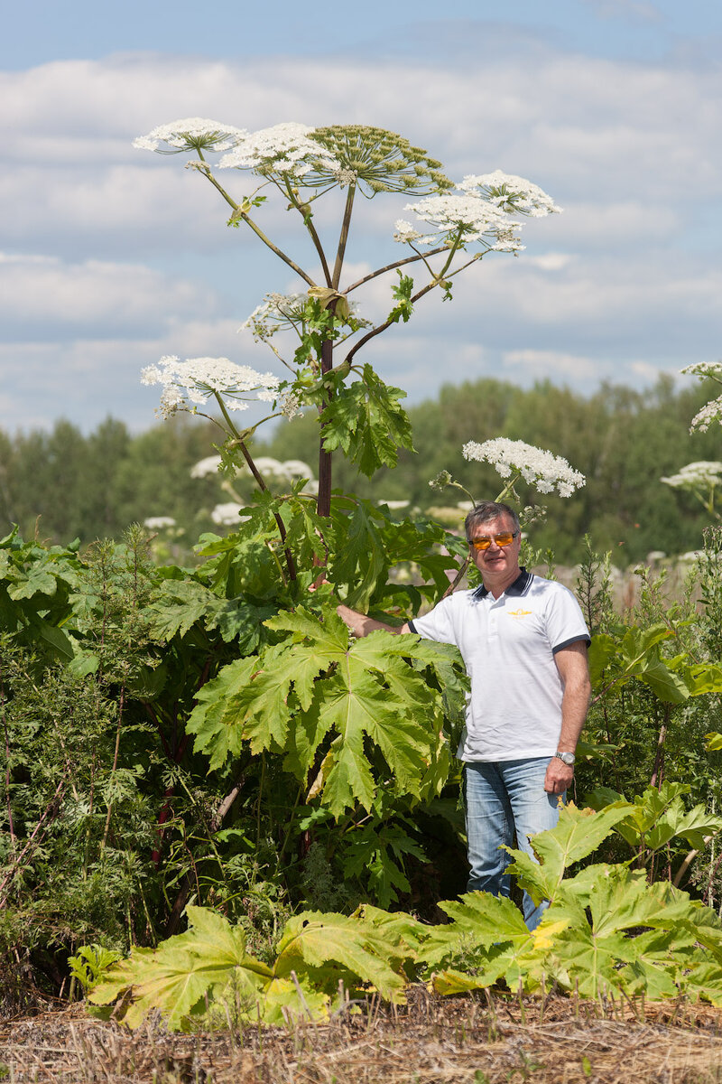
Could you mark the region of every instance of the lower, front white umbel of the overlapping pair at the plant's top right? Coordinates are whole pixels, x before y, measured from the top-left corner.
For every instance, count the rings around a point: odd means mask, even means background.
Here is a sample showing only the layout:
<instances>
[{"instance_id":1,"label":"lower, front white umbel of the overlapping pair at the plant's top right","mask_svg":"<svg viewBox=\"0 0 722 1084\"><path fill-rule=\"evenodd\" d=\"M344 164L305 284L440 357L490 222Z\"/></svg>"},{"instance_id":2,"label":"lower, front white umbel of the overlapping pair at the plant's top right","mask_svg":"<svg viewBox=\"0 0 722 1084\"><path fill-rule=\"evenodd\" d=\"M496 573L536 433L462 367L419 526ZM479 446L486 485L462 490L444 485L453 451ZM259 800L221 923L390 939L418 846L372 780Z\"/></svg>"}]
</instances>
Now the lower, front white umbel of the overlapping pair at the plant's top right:
<instances>
[{"instance_id":1,"label":"lower, front white umbel of the overlapping pair at the plant's top right","mask_svg":"<svg viewBox=\"0 0 722 1084\"><path fill-rule=\"evenodd\" d=\"M480 196L456 193L426 196L417 203L406 204L404 209L412 210L422 222L435 227L436 232L415 238L419 245L438 245L449 236L460 234L462 244L478 241L487 251L514 253L524 247L515 232L522 223ZM401 234L397 229L394 237L397 241L408 240Z\"/></svg>"}]
</instances>

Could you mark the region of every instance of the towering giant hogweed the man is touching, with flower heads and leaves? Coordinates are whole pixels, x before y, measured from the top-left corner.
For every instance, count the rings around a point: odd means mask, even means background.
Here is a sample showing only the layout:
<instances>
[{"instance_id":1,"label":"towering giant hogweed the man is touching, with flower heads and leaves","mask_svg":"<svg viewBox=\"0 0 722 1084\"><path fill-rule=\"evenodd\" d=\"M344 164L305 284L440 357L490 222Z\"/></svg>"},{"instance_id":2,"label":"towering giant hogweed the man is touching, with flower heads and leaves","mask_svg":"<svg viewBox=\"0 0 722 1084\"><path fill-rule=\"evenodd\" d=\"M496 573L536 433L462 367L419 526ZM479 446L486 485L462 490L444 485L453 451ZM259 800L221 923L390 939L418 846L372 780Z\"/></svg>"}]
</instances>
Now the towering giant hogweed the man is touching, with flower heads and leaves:
<instances>
[{"instance_id":1,"label":"towering giant hogweed the man is touching, with flower heads and leaves","mask_svg":"<svg viewBox=\"0 0 722 1084\"><path fill-rule=\"evenodd\" d=\"M275 772L290 773L296 798L291 826L279 840L281 853L288 853L289 831L317 830L331 818L337 830L329 850L346 872L366 867L367 887L389 904L408 889L404 855L421 852L412 829L392 834L381 848L375 829L399 814L398 823L408 826L404 814L439 793L448 773L444 720L452 704L461 702L463 679L454 650L413 636L404 638L403 650L390 635L354 643L333 610L341 597L365 610L391 611L401 621L449 589L447 573L465 546L438 526L396 524L383 508L353 494L332 498L332 456L341 452L370 477L395 465L399 449L412 449L404 392L362 363L359 351L409 321L433 291L450 298L456 276L480 259L516 254L523 220L557 208L537 185L499 171L468 176L455 185L425 151L393 132L358 125L281 124L248 133L192 118L157 128L135 145L193 156L186 166L224 201L228 224L250 231L302 284L293 295L267 295L247 322L285 376L224 358L176 357L161 359L142 376L162 386L166 417L179 410L212 411L222 473L252 474L258 491L240 509L238 529L202 540L204 578L226 598L250 597L274 611L264 615L257 644L241 642L241 657L209 674L187 732L216 771L227 771L250 751L262 763L272 758ZM241 194L232 194L237 186ZM406 195L405 210L417 219L418 228L405 219L395 223L393 237L405 254L344 281L359 197L394 193ZM317 227L318 201L339 194L338 240L329 249ZM273 196L283 199L305 238L306 267L263 227ZM388 314L368 322L356 297L384 276L391 282ZM238 422L249 398L268 402L268 417L292 417L304 408L317 412L317 496L309 495L305 479L278 492L264 477L249 443L260 423L244 428ZM421 586L393 582L390 572L408 563ZM179 616L160 618L170 642L189 629L189 614L187 621L181 616L188 593L174 581L167 593Z\"/></svg>"}]
</instances>

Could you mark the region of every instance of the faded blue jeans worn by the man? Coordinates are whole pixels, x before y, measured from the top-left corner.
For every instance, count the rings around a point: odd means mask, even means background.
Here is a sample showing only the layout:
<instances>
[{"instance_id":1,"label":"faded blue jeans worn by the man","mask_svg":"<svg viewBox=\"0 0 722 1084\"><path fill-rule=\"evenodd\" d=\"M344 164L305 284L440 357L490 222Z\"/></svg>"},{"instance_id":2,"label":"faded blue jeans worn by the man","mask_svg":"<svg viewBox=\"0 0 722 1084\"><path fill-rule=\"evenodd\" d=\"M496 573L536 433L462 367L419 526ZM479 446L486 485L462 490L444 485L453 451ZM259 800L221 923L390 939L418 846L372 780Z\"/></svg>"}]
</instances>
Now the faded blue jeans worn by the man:
<instances>
[{"instance_id":1,"label":"faded blue jeans worn by the man","mask_svg":"<svg viewBox=\"0 0 722 1084\"><path fill-rule=\"evenodd\" d=\"M504 869L511 859L499 848L512 847L515 834L517 849L534 857L529 836L553 828L559 821L560 796L544 790L549 760L533 757L464 765L470 892L510 895L511 876ZM524 921L530 930L539 925L548 906L546 900L535 906L524 893Z\"/></svg>"}]
</instances>

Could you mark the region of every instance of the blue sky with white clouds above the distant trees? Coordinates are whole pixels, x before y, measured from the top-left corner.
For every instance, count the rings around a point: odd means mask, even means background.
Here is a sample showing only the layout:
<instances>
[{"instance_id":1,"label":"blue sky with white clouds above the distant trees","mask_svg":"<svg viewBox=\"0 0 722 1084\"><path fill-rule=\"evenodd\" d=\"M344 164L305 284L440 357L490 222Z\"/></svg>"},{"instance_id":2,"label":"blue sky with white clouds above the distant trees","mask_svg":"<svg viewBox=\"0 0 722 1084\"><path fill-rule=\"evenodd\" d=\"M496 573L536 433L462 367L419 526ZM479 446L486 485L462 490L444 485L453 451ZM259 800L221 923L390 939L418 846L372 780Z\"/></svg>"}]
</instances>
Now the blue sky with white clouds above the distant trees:
<instances>
[{"instance_id":1,"label":"blue sky with white clouds above the distant trees","mask_svg":"<svg viewBox=\"0 0 722 1084\"><path fill-rule=\"evenodd\" d=\"M529 221L369 351L408 402L481 377L644 388L722 344L722 5L716 0L4 0L0 429L155 424L161 356L283 371L239 331L298 287L182 156L133 149L182 117L388 128L446 173L502 169L564 208ZM236 196L248 176L225 171ZM358 208L349 282L399 257L407 197ZM331 229L336 209L319 211ZM304 268L313 254L259 211ZM360 292L359 292L360 294ZM388 311L380 283L362 311ZM384 308L385 307L385 308ZM359 354L360 359L360 354ZM690 377L685 379L691 379Z\"/></svg>"}]
</instances>

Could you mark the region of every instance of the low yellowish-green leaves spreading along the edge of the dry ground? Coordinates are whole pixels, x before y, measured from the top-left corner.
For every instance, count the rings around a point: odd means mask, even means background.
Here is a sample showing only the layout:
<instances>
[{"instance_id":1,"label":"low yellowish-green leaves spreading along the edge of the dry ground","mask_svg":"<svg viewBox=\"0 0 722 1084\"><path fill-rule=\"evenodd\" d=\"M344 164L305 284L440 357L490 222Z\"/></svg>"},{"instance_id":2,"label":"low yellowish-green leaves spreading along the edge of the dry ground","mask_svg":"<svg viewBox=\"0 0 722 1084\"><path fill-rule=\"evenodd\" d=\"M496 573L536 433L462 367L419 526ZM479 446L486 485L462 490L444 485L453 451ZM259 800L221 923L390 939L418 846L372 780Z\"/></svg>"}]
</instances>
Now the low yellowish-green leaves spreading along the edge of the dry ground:
<instances>
[{"instance_id":1,"label":"low yellowish-green leaves spreading along the edge of the dry ground","mask_svg":"<svg viewBox=\"0 0 722 1084\"><path fill-rule=\"evenodd\" d=\"M394 1002L408 981L424 978L442 994L496 983L535 991L556 982L583 997L684 994L722 1004L722 922L713 912L621 864L564 876L625 812L621 802L598 813L564 808L555 828L534 837L538 863L511 852L521 886L550 900L533 932L510 900L485 892L442 904L450 918L443 926L376 907L350 917L307 912L288 922L266 968L246 956L242 937L225 919L192 908L186 934L154 952L135 950L91 999L108 1004L130 991L128 1024L155 1008L171 1028L187 1027L193 1011L206 1009L205 998L222 1004L232 990L246 994L248 1021L274 1023L281 1011L323 1019L339 981Z\"/></svg>"}]
</instances>

